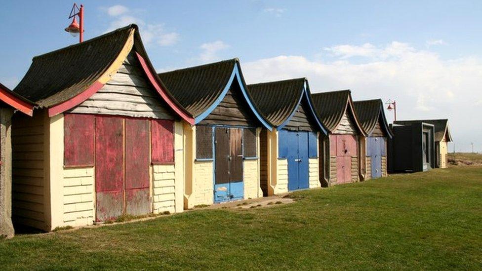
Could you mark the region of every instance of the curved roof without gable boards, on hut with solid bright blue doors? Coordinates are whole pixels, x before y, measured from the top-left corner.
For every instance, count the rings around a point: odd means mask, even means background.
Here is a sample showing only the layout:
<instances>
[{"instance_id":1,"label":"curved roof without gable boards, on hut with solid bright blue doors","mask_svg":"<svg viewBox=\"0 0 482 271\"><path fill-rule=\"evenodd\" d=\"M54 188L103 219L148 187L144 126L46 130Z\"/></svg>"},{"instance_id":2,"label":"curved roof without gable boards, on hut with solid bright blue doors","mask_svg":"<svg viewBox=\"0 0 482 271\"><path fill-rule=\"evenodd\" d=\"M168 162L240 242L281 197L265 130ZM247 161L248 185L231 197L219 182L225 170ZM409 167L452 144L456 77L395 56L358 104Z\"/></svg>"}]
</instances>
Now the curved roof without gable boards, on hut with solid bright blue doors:
<instances>
[{"instance_id":1,"label":"curved roof without gable boards, on hut with solid bright blue doors","mask_svg":"<svg viewBox=\"0 0 482 271\"><path fill-rule=\"evenodd\" d=\"M289 122L304 97L311 109L312 118L320 130L326 133L313 110L306 78L250 84L247 87L261 114L278 129Z\"/></svg>"}]
</instances>

